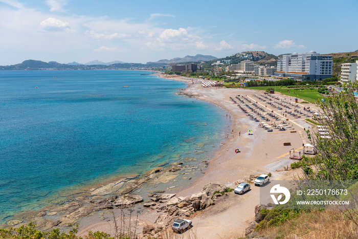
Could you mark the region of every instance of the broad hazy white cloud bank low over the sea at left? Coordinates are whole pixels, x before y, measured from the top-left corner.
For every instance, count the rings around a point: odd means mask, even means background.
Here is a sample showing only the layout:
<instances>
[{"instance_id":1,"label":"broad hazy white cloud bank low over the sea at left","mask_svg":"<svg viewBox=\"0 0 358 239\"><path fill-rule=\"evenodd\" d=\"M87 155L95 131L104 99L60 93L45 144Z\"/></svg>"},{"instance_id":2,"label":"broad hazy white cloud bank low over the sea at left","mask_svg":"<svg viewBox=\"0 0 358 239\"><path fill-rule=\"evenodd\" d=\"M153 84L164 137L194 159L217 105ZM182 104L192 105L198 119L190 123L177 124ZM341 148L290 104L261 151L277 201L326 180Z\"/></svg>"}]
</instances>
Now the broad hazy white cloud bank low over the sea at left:
<instances>
[{"instance_id":1,"label":"broad hazy white cloud bank low over the sea at left","mask_svg":"<svg viewBox=\"0 0 358 239\"><path fill-rule=\"evenodd\" d=\"M77 58L76 61L81 62L79 58L86 59L91 54L113 58L118 52L129 50L131 54L126 55L129 57L127 61L130 58L134 60L138 55L143 56L141 59L144 61L145 57L145 60L151 60L153 51L158 51L156 54L165 58L169 52L173 55L195 53L204 49L215 50L214 46L219 46L214 38L203 38L209 33L201 27L170 29L152 24L148 19L139 21L56 12L64 8L66 1L42 1L51 5L52 12L50 8L26 8L25 4L22 7L17 2L21 0L0 1L0 32L6 35L0 37L0 51L11 53L13 59L7 59L11 63L20 61L19 55L20 59L67 62ZM22 8L5 5L5 2ZM152 17L170 17L164 15L154 14ZM221 43L220 46L231 49L228 44Z\"/></svg>"}]
</instances>

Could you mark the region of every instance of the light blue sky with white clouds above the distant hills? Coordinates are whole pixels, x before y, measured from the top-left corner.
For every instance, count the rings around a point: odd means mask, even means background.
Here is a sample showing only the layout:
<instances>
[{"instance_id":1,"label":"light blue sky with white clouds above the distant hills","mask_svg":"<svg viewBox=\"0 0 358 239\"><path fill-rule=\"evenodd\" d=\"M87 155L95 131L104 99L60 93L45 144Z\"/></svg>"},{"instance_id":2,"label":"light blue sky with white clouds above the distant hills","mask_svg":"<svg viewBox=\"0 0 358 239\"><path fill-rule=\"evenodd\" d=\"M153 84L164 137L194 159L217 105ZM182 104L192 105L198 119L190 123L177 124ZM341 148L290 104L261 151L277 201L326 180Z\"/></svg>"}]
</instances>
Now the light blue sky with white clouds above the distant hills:
<instances>
[{"instance_id":1,"label":"light blue sky with white clouds above the distant hills","mask_svg":"<svg viewBox=\"0 0 358 239\"><path fill-rule=\"evenodd\" d=\"M358 50L358 1L0 0L0 65Z\"/></svg>"}]
</instances>

